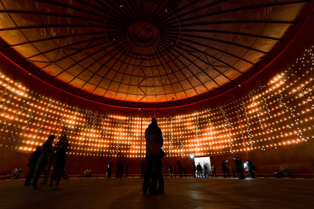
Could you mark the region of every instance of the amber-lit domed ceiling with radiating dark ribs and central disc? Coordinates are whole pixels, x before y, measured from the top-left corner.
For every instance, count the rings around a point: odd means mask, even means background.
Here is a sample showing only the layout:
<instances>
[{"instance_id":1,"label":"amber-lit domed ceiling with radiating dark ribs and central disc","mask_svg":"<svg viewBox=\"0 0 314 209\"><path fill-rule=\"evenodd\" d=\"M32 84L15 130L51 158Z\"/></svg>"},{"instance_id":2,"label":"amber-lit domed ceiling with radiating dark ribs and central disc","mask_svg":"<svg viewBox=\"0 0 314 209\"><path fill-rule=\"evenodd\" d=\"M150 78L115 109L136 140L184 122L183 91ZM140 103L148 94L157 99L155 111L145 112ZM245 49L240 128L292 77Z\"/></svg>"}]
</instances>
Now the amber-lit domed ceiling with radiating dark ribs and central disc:
<instances>
[{"instance_id":1,"label":"amber-lit domed ceiling with radiating dark ribs and central disc","mask_svg":"<svg viewBox=\"0 0 314 209\"><path fill-rule=\"evenodd\" d=\"M79 97L175 107L255 75L311 8L305 0L0 0L0 49Z\"/></svg>"}]
</instances>

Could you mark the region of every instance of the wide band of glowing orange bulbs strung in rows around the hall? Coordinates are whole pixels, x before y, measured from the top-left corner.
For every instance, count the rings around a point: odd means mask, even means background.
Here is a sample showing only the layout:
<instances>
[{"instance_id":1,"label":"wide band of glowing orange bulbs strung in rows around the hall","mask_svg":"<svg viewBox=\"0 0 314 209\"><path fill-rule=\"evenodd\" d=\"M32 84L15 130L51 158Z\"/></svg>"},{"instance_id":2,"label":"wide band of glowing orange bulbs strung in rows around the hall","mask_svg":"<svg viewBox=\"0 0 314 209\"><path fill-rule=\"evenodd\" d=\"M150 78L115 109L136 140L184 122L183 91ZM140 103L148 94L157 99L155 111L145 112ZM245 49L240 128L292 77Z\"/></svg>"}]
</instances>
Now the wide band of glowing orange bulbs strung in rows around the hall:
<instances>
[{"instance_id":1,"label":"wide band of glowing orange bulbs strung in rows around the hall","mask_svg":"<svg viewBox=\"0 0 314 209\"><path fill-rule=\"evenodd\" d=\"M313 63L311 50L307 52L302 60L310 59ZM291 69L224 106L158 118L167 156L202 156L307 143L314 138L312 68L304 70L306 79L292 80L289 71ZM145 140L142 138L142 144L140 140L150 118L100 116L92 110L35 94L3 75L1 79L0 146L32 151L49 134L67 132L70 150L80 150L80 153L69 154L124 156L124 153L145 153ZM104 147L115 149L104 150Z\"/></svg>"}]
</instances>

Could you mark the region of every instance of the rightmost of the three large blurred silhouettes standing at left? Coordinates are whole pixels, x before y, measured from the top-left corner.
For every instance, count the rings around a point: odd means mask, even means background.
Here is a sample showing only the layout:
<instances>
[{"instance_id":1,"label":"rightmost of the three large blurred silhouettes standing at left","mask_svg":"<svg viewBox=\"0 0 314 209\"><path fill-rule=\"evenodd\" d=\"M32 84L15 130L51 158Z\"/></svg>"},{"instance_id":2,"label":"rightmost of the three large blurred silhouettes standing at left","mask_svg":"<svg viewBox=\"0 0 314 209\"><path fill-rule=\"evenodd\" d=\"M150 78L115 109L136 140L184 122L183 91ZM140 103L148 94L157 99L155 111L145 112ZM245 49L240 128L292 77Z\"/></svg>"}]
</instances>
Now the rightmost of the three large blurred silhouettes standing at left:
<instances>
[{"instance_id":1,"label":"rightmost of the three large blurred silhouettes standing at left","mask_svg":"<svg viewBox=\"0 0 314 209\"><path fill-rule=\"evenodd\" d=\"M64 166L67 162L66 151L69 145L67 137L67 135L63 135L56 144L55 154L52 157L52 175L48 190L51 189L54 180L56 180L56 189L60 189L60 180L63 176Z\"/></svg>"}]
</instances>

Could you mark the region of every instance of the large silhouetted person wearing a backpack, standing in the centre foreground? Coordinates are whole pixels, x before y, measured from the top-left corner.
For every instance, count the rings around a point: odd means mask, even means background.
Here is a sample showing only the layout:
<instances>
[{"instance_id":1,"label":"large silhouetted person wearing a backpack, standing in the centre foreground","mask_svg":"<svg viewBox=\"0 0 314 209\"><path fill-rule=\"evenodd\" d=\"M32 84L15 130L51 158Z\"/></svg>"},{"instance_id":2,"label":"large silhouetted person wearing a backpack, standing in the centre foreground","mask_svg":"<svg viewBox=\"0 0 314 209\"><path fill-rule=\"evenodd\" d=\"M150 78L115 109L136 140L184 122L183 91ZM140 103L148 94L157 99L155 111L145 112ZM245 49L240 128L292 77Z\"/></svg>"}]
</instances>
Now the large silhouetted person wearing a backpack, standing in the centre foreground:
<instances>
[{"instance_id":1,"label":"large silhouetted person wearing a backpack, standing in the centre foreground","mask_svg":"<svg viewBox=\"0 0 314 209\"><path fill-rule=\"evenodd\" d=\"M157 125L157 119L152 118L152 122L148 125L145 130L145 141L146 141L146 170L144 173L143 181L143 193L147 193L149 189L149 194L157 194L157 182L161 175L161 158L160 150L164 144L162 138L162 132ZM163 190L163 188L162 188ZM161 191L163 193L163 191Z\"/></svg>"}]
</instances>

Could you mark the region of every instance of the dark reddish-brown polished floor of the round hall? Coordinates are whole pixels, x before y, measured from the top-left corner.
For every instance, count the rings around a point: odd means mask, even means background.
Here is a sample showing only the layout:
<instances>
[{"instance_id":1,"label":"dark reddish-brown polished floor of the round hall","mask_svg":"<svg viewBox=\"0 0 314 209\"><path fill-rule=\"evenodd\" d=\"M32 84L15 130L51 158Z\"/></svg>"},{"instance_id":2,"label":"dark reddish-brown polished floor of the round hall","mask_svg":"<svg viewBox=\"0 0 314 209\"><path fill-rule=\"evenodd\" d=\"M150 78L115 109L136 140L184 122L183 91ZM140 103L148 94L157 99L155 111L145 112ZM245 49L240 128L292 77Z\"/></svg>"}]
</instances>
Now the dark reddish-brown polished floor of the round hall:
<instances>
[{"instance_id":1,"label":"dark reddish-brown polished floor of the round hall","mask_svg":"<svg viewBox=\"0 0 314 209\"><path fill-rule=\"evenodd\" d=\"M70 178L61 190L30 190L23 179L0 180L0 208L314 208L314 179L165 177L159 195L142 194L142 182Z\"/></svg>"}]
</instances>

